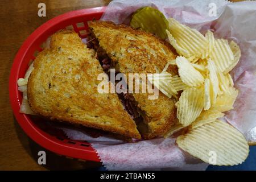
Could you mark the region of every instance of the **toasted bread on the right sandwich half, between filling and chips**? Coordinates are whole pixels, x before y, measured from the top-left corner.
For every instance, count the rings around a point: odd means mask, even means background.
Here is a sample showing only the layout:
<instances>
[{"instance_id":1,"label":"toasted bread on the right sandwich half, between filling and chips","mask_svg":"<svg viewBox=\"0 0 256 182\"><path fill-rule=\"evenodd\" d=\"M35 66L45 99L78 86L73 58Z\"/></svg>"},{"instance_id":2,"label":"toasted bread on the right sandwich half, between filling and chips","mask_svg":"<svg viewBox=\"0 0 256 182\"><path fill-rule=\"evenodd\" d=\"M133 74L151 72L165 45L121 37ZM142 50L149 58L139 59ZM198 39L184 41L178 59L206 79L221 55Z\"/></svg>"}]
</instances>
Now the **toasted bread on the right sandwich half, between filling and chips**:
<instances>
[{"instance_id":1,"label":"toasted bread on the right sandwich half, between filling and chips","mask_svg":"<svg viewBox=\"0 0 256 182\"><path fill-rule=\"evenodd\" d=\"M125 25L115 25L112 22L96 21L88 22L88 25L99 46L110 57L112 68L125 75L156 73L156 70L161 72L167 61L176 57L176 51L170 44L150 33L134 30ZM167 71L177 75L175 65L171 65ZM138 126L138 129L144 138L154 138L170 130L176 118L176 101L160 92L156 100L148 100L148 95L132 94L137 107L143 111L146 123Z\"/></svg>"}]
</instances>

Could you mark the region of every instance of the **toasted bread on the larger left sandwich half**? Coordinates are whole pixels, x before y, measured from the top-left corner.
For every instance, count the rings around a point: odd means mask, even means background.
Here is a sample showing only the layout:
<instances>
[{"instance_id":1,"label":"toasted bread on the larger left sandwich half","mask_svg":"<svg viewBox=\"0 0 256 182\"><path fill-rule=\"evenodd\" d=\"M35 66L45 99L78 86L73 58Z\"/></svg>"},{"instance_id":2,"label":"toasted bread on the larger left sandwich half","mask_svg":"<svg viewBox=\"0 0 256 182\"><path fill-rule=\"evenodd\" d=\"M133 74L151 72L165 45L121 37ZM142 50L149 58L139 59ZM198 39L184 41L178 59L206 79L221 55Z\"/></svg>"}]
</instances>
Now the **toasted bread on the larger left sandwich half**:
<instances>
[{"instance_id":1,"label":"toasted bread on the larger left sandwich half","mask_svg":"<svg viewBox=\"0 0 256 182\"><path fill-rule=\"evenodd\" d=\"M34 61L27 86L31 109L44 117L141 138L116 94L98 93L104 73L95 52L73 31L52 35Z\"/></svg>"}]
</instances>

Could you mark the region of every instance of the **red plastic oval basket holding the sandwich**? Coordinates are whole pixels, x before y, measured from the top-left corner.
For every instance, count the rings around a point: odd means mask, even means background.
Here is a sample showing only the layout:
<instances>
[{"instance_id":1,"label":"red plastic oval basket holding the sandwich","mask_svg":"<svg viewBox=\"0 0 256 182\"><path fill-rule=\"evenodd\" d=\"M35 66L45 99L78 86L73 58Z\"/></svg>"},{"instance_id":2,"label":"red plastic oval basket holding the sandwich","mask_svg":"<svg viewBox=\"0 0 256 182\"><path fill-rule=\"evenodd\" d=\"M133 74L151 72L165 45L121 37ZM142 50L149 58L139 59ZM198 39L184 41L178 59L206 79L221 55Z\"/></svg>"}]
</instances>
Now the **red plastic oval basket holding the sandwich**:
<instances>
[{"instance_id":1,"label":"red plastic oval basket holding the sandwich","mask_svg":"<svg viewBox=\"0 0 256 182\"><path fill-rule=\"evenodd\" d=\"M49 134L43 131L42 127L39 127L38 123L35 119L32 119L30 115L19 113L22 93L19 92L16 82L18 78L24 77L28 63L35 59L36 52L42 51L42 44L49 36L65 27L73 27L73 30L79 33L81 38L85 38L86 30L88 29L87 22L93 19L100 19L105 8L106 7L96 7L71 11L48 20L48 22L37 28L27 38L16 54L9 80L11 107L13 108L15 118L19 125L30 138L40 144L40 146L56 154L96 162L100 162L100 159L88 142L60 138L57 135Z\"/></svg>"}]
</instances>

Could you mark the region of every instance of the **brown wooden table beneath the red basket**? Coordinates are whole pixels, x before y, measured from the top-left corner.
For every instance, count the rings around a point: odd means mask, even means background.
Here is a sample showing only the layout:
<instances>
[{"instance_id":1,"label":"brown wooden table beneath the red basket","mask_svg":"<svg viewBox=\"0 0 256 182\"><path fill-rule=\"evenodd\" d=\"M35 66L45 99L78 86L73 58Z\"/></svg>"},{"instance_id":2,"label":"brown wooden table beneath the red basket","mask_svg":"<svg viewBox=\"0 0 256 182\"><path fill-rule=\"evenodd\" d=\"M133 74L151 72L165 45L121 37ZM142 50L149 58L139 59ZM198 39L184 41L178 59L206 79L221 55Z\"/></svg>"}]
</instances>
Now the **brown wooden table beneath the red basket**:
<instances>
[{"instance_id":1,"label":"brown wooden table beneath the red basket","mask_svg":"<svg viewBox=\"0 0 256 182\"><path fill-rule=\"evenodd\" d=\"M38 3L46 3L46 17L38 16ZM0 1L0 170L86 169L99 163L81 162L47 153L46 166L37 163L44 150L27 137L15 121L9 104L9 75L24 40L47 20L72 10L108 5L109 0L1 0Z\"/></svg>"}]
</instances>

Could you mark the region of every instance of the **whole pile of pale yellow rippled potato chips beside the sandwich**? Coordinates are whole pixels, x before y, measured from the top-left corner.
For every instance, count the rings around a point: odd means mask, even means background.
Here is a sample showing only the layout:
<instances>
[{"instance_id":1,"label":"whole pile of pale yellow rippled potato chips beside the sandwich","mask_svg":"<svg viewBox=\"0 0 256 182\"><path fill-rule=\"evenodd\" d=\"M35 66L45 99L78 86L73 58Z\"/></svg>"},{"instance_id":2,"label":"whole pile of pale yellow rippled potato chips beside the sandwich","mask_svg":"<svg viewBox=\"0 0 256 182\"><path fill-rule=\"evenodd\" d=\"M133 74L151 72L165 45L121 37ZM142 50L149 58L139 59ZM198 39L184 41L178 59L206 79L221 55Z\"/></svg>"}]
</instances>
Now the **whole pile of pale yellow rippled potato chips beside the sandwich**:
<instances>
[{"instance_id":1,"label":"whole pile of pale yellow rippled potato chips beside the sandwich","mask_svg":"<svg viewBox=\"0 0 256 182\"><path fill-rule=\"evenodd\" d=\"M245 137L217 119L233 109L238 95L229 72L240 60L240 48L233 41L215 39L211 31L204 36L173 18L168 22L168 40L179 56L159 74L164 79L158 88L168 97L183 92L176 103L177 122L166 137L186 128L176 140L184 151L210 164L242 163L249 153ZM177 65L179 76L166 72L170 64Z\"/></svg>"}]
</instances>

